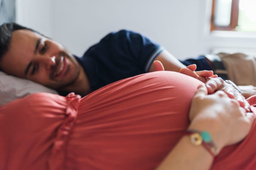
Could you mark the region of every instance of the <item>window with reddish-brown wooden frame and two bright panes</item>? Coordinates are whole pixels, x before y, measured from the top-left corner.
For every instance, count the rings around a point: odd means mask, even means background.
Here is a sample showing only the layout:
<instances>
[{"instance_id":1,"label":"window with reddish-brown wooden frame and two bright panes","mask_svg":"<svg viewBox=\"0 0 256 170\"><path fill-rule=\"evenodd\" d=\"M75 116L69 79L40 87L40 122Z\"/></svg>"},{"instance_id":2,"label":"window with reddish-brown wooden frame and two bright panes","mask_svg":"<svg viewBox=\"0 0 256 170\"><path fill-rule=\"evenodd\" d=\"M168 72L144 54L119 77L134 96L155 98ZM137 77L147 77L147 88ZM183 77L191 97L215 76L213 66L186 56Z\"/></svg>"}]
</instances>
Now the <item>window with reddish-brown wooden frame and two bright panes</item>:
<instances>
[{"instance_id":1,"label":"window with reddish-brown wooden frame and two bright panes","mask_svg":"<svg viewBox=\"0 0 256 170\"><path fill-rule=\"evenodd\" d=\"M213 0L211 31L256 32L255 0Z\"/></svg>"}]
</instances>

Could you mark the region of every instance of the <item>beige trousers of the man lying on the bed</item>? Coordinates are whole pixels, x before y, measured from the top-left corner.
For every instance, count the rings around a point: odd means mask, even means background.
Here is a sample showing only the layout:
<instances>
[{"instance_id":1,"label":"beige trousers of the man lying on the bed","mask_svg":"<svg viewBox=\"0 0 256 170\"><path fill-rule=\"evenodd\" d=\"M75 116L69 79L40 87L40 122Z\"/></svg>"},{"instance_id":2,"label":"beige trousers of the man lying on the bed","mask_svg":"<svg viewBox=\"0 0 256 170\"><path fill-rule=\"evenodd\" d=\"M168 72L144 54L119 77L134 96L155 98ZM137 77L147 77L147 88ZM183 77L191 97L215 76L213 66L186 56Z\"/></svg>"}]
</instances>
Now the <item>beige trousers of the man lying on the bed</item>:
<instances>
[{"instance_id":1,"label":"beige trousers of the man lying on the bed","mask_svg":"<svg viewBox=\"0 0 256 170\"><path fill-rule=\"evenodd\" d=\"M236 85L256 86L256 57L244 53L218 53L228 71L228 77Z\"/></svg>"}]
</instances>

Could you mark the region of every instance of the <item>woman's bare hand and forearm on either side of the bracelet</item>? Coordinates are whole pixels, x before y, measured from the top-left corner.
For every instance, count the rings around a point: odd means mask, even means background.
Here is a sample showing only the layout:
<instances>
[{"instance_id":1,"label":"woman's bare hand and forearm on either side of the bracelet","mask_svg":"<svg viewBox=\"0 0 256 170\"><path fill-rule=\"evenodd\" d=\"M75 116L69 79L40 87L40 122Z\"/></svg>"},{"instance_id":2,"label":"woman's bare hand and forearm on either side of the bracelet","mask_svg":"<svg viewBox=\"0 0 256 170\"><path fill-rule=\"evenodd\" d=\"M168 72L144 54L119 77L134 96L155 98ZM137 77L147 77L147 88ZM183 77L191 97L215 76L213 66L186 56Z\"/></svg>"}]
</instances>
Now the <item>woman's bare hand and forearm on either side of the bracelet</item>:
<instances>
[{"instance_id":1,"label":"woman's bare hand and forearm on either side of the bracelet","mask_svg":"<svg viewBox=\"0 0 256 170\"><path fill-rule=\"evenodd\" d=\"M255 120L235 99L223 91L208 95L206 86L198 88L190 109L188 129L208 131L217 150L239 142L249 133ZM213 156L204 147L195 147L191 138L183 136L169 152L157 170L210 169Z\"/></svg>"}]
</instances>

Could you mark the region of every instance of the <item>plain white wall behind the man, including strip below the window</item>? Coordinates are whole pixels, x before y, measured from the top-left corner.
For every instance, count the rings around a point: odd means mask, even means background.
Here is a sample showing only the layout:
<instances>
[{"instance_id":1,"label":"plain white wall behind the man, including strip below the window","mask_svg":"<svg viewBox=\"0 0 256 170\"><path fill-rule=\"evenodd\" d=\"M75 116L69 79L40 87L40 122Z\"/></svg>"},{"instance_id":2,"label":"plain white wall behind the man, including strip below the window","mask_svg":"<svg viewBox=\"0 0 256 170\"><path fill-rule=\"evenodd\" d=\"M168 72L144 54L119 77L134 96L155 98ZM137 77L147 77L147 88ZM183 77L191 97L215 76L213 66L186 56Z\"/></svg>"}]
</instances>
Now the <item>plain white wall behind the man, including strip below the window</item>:
<instances>
[{"instance_id":1,"label":"plain white wall behind the man, including strip below the window","mask_svg":"<svg viewBox=\"0 0 256 170\"><path fill-rule=\"evenodd\" d=\"M216 47L255 48L255 38L209 34L211 0L18 1L22 1L21 24L62 42L77 55L120 29L143 33L178 58L208 53Z\"/></svg>"}]
</instances>

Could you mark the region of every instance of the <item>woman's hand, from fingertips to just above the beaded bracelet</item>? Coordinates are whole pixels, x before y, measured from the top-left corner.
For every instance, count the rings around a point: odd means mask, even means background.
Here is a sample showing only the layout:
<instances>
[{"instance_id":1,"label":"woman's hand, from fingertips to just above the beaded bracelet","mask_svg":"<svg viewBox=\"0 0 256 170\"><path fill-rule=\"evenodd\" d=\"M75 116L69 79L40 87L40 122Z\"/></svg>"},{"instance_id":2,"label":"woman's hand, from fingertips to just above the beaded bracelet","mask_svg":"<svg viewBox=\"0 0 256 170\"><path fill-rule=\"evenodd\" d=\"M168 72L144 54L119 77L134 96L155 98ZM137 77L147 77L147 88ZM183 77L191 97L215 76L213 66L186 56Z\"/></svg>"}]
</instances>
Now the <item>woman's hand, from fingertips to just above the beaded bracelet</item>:
<instances>
[{"instance_id":1,"label":"woman's hand, from fingertips to just above the beaded bracelet","mask_svg":"<svg viewBox=\"0 0 256 170\"><path fill-rule=\"evenodd\" d=\"M191 104L189 128L208 131L219 149L237 143L249 133L255 120L239 102L223 91L208 95L207 88L198 88Z\"/></svg>"}]
</instances>

